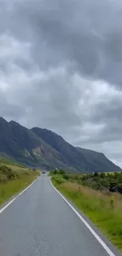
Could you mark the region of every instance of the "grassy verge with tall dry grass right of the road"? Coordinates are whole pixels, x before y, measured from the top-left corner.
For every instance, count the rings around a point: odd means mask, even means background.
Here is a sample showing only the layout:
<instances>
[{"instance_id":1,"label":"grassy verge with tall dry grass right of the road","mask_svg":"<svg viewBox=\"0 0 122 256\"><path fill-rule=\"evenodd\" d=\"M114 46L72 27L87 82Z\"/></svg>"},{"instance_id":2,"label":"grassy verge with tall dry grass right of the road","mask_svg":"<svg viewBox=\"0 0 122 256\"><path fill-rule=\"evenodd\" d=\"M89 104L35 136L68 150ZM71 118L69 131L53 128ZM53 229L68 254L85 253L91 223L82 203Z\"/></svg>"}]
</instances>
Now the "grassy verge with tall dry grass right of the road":
<instances>
[{"instance_id":1,"label":"grassy verge with tall dry grass right of the road","mask_svg":"<svg viewBox=\"0 0 122 256\"><path fill-rule=\"evenodd\" d=\"M59 184L54 177L52 182L122 251L122 195L114 194L115 202L111 205L110 195L106 192L95 191L71 182L63 181Z\"/></svg>"}]
</instances>

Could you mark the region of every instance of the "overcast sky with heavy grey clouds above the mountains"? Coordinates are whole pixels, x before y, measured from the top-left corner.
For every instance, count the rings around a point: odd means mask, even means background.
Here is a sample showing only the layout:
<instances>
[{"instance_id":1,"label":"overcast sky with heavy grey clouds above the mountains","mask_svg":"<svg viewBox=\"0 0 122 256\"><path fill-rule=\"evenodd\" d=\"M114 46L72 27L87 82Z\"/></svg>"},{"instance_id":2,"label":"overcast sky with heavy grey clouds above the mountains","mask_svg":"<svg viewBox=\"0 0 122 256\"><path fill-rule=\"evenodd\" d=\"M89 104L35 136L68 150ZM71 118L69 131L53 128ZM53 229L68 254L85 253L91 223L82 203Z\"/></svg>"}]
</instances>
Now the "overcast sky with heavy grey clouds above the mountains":
<instances>
[{"instance_id":1,"label":"overcast sky with heavy grey clouds above the mountains","mask_svg":"<svg viewBox=\"0 0 122 256\"><path fill-rule=\"evenodd\" d=\"M122 166L122 2L0 0L0 116Z\"/></svg>"}]
</instances>

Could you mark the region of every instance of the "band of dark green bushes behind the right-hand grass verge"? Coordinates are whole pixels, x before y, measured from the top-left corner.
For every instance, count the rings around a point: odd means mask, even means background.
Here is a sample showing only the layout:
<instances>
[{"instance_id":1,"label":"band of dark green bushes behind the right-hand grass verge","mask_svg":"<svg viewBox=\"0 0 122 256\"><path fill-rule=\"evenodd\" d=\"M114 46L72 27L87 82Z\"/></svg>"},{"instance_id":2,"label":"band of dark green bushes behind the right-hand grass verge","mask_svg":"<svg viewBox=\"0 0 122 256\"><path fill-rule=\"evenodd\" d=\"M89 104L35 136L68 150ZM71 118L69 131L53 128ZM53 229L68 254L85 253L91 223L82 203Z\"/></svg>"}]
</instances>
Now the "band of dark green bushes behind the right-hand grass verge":
<instances>
[{"instance_id":1,"label":"band of dark green bushes behind the right-hand grass verge","mask_svg":"<svg viewBox=\"0 0 122 256\"><path fill-rule=\"evenodd\" d=\"M57 184L65 181L71 181L76 184L83 184L83 186L91 187L95 190L118 191L122 193L122 173L87 173L87 174L73 174L65 173L62 169L51 172Z\"/></svg>"}]
</instances>

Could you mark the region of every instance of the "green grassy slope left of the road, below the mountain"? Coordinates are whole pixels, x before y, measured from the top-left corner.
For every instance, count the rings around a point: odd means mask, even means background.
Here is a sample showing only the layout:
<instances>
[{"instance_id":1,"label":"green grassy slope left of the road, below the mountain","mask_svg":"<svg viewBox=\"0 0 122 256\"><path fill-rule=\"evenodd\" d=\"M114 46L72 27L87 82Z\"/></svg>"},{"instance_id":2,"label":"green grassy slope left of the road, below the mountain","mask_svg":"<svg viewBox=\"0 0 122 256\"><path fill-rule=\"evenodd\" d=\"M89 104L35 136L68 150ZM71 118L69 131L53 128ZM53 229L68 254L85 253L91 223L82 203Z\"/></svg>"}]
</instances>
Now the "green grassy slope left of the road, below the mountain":
<instances>
[{"instance_id":1,"label":"green grassy slope left of the road, below the mountain","mask_svg":"<svg viewBox=\"0 0 122 256\"><path fill-rule=\"evenodd\" d=\"M0 159L0 205L28 187L37 176L39 176L37 170L11 163L7 159Z\"/></svg>"}]
</instances>

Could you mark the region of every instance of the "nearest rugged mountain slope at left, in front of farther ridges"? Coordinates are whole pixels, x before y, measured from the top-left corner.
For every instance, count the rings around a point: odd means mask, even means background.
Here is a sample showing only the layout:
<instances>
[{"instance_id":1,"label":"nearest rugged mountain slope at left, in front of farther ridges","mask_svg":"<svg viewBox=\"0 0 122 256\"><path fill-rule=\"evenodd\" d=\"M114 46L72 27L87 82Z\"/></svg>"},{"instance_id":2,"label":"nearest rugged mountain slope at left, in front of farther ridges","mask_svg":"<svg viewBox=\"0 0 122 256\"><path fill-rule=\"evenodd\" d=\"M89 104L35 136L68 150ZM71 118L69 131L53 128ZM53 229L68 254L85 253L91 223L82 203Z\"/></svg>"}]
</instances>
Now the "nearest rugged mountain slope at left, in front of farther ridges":
<instances>
[{"instance_id":1,"label":"nearest rugged mountain slope at left, in front of farther ridges","mask_svg":"<svg viewBox=\"0 0 122 256\"><path fill-rule=\"evenodd\" d=\"M0 118L0 153L31 166L54 168L65 161L63 156L43 139L15 121Z\"/></svg>"}]
</instances>

